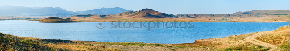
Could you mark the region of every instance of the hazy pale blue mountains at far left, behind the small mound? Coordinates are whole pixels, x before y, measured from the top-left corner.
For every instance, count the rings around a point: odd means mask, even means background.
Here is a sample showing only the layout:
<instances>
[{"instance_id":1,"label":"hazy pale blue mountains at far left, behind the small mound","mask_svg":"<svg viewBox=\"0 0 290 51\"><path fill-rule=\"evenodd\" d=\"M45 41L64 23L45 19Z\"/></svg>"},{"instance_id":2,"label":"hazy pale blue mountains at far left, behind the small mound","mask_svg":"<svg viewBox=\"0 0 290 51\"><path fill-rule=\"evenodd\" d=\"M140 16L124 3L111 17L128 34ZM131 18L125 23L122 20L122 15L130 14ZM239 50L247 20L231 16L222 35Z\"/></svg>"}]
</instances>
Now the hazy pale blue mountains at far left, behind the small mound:
<instances>
[{"instance_id":1,"label":"hazy pale blue mountains at far left, behind the small mound","mask_svg":"<svg viewBox=\"0 0 290 51\"><path fill-rule=\"evenodd\" d=\"M24 7L24 6L3 5L3 6L0 6L0 15L1 16L15 16L15 15L26 16L26 15L35 15L35 14L56 14L56 13L70 14L69 12L61 11L59 9L55 9L52 7L43 7L43 8L33 7L33 8Z\"/></svg>"}]
</instances>

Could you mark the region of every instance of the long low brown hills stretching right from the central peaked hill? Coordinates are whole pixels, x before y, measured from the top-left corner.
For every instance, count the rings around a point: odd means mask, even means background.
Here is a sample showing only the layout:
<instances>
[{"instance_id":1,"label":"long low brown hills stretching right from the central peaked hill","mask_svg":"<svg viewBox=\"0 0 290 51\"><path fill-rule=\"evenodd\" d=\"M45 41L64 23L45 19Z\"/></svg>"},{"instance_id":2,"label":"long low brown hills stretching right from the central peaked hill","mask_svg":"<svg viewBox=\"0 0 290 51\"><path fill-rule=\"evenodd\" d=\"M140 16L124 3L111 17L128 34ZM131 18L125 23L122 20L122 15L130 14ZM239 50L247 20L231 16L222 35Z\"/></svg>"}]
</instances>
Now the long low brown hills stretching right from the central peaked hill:
<instances>
[{"instance_id":1,"label":"long low brown hills stretching right from the central peaked hill","mask_svg":"<svg viewBox=\"0 0 290 51\"><path fill-rule=\"evenodd\" d=\"M251 10L236 12L233 14L169 14L178 18L197 18L197 17L266 17L273 15L289 15L289 10ZM276 17L276 16L275 16Z\"/></svg>"}]
</instances>

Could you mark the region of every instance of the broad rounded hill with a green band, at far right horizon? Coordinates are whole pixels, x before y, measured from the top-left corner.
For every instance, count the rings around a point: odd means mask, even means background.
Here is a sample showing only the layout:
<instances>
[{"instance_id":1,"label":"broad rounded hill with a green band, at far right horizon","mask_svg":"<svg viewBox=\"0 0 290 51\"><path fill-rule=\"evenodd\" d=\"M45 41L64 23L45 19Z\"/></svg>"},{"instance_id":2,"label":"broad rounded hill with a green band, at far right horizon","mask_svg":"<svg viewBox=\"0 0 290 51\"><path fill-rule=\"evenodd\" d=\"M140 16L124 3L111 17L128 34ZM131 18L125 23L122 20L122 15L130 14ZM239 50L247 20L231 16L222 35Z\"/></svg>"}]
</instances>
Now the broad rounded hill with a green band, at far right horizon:
<instances>
[{"instance_id":1,"label":"broad rounded hill with a green band, at far right horizon","mask_svg":"<svg viewBox=\"0 0 290 51\"><path fill-rule=\"evenodd\" d=\"M289 14L289 10L252 10L233 14Z\"/></svg>"}]
</instances>

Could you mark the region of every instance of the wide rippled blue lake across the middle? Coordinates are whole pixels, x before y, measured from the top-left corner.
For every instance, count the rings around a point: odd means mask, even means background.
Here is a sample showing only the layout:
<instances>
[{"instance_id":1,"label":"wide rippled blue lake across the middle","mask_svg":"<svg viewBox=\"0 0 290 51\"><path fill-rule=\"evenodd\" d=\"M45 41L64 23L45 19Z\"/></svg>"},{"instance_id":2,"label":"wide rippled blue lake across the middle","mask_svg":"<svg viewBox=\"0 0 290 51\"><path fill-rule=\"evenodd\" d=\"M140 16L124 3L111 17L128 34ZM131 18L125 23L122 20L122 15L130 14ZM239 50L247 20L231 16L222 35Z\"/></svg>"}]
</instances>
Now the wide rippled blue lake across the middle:
<instances>
[{"instance_id":1,"label":"wide rippled blue lake across the middle","mask_svg":"<svg viewBox=\"0 0 290 51\"><path fill-rule=\"evenodd\" d=\"M32 21L0 21L0 32L21 37L99 42L146 42L179 44L195 40L227 37L276 30L289 22L195 22L194 28L110 28L110 22L40 23ZM122 23L121 23L122 24ZM125 26L128 27L128 23ZM145 25L148 25L145 24ZM184 25L184 24L182 24ZM135 23L134 26L140 26ZM148 27L148 26L147 26Z\"/></svg>"}]
</instances>

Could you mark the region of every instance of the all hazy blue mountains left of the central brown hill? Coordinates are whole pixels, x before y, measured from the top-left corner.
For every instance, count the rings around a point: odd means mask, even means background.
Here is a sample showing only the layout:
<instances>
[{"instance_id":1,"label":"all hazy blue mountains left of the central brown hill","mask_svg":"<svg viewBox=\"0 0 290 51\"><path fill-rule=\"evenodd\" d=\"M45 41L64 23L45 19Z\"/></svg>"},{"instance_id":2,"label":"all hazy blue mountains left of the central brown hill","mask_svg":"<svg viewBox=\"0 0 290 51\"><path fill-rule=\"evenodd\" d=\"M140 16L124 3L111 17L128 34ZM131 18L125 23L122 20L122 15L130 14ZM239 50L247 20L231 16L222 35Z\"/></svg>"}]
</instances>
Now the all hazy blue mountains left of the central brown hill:
<instances>
[{"instance_id":1,"label":"all hazy blue mountains left of the central brown hill","mask_svg":"<svg viewBox=\"0 0 290 51\"><path fill-rule=\"evenodd\" d=\"M70 17L80 14L94 14L94 15L109 15L109 14L118 14L126 11L123 8L101 8L93 9L87 11L67 11L61 7L24 7L24 6L11 6L11 5L2 5L0 6L0 16L59 16L59 17Z\"/></svg>"}]
</instances>

